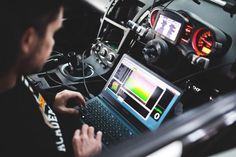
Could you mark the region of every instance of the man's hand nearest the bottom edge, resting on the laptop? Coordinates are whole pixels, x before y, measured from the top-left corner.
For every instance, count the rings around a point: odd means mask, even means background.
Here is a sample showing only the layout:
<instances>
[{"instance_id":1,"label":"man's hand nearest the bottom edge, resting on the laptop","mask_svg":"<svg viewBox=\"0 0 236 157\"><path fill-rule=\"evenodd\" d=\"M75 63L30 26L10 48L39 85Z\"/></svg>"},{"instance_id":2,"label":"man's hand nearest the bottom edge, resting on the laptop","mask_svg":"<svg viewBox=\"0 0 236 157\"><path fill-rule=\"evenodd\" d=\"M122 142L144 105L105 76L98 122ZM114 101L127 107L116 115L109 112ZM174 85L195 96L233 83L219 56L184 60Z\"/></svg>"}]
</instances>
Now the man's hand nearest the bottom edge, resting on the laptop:
<instances>
[{"instance_id":1,"label":"man's hand nearest the bottom edge, resting on the laptop","mask_svg":"<svg viewBox=\"0 0 236 157\"><path fill-rule=\"evenodd\" d=\"M72 139L75 157L90 157L99 153L102 149L101 140L101 131L95 136L94 128L84 124L81 130L75 131Z\"/></svg>"}]
</instances>

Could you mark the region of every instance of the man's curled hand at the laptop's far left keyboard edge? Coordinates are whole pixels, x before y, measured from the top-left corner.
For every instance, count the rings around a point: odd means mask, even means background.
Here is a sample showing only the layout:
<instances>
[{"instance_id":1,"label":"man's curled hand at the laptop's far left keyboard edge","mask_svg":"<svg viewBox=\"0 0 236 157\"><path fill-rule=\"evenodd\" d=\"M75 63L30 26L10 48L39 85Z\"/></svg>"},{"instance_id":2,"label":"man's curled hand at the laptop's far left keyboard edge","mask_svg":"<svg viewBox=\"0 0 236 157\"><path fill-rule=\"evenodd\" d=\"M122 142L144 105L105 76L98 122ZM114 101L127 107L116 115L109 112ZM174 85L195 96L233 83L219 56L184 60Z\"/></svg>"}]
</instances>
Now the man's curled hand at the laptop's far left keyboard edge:
<instances>
[{"instance_id":1,"label":"man's curled hand at the laptop's far left keyboard edge","mask_svg":"<svg viewBox=\"0 0 236 157\"><path fill-rule=\"evenodd\" d=\"M66 105L68 101L74 99L78 105L84 105L85 100L81 93L70 90L63 90L56 94L54 108L59 113L77 114L79 111L74 108L69 108Z\"/></svg>"}]
</instances>

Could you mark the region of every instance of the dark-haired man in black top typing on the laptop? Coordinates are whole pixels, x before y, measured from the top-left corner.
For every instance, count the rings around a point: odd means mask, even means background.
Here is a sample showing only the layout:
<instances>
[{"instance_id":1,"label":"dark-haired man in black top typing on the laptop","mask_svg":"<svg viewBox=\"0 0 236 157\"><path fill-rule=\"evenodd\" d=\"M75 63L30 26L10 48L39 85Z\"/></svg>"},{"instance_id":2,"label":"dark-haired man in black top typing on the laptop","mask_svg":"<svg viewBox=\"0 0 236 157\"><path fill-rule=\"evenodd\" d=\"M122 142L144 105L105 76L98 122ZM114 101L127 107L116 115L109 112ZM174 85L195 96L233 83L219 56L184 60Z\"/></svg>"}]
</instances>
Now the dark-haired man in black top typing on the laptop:
<instances>
[{"instance_id":1,"label":"dark-haired man in black top typing on the laptop","mask_svg":"<svg viewBox=\"0 0 236 157\"><path fill-rule=\"evenodd\" d=\"M26 75L42 69L52 52L53 35L62 27L60 0L3 0L0 5L0 156L67 156L58 119ZM61 113L69 99L84 105L78 92L64 90L53 107ZM101 150L102 133L83 125L72 139L75 157Z\"/></svg>"}]
</instances>

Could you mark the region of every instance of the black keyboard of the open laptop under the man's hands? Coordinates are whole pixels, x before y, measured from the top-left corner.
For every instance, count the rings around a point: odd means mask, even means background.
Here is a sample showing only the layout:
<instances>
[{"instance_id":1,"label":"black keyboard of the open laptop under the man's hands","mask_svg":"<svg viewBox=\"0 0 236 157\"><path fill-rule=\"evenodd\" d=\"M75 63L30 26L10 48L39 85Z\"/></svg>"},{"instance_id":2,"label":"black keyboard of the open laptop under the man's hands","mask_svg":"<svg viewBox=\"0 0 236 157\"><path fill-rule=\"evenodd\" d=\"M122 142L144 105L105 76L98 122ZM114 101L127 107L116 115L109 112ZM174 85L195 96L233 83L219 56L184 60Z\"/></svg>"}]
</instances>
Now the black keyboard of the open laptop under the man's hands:
<instances>
[{"instance_id":1,"label":"black keyboard of the open laptop under the man's hands","mask_svg":"<svg viewBox=\"0 0 236 157\"><path fill-rule=\"evenodd\" d=\"M112 115L98 99L93 99L81 108L83 121L103 132L102 142L105 145L115 144L134 136L133 132L125 127L121 121Z\"/></svg>"}]
</instances>

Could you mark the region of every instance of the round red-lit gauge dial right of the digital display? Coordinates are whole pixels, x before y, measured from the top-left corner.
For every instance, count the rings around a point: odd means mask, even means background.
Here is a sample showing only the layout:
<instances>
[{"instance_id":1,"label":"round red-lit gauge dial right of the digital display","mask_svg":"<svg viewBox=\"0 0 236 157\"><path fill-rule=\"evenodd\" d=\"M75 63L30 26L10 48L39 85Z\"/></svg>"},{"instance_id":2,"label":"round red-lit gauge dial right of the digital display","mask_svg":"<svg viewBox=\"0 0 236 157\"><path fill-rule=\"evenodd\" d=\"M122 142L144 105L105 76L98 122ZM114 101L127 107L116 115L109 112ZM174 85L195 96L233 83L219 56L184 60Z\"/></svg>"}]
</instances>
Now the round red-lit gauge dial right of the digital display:
<instances>
[{"instance_id":1,"label":"round red-lit gauge dial right of the digital display","mask_svg":"<svg viewBox=\"0 0 236 157\"><path fill-rule=\"evenodd\" d=\"M198 56L208 56L212 53L214 38L206 28L199 28L193 35L192 45Z\"/></svg>"}]
</instances>

